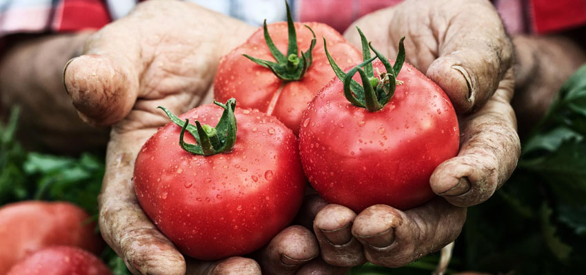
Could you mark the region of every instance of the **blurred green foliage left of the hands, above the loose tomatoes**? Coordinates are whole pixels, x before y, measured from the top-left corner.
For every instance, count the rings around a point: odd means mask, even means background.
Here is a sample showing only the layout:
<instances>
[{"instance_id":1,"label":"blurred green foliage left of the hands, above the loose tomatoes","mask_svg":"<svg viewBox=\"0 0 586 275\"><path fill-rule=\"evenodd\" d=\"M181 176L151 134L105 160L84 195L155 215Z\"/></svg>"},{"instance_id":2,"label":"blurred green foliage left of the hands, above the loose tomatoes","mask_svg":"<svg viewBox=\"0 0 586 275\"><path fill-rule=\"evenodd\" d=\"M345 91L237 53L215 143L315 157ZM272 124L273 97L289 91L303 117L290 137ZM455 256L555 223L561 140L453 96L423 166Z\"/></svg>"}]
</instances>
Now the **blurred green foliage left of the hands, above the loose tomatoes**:
<instances>
[{"instance_id":1,"label":"blurred green foliage left of the hands, above the loose tomatoes","mask_svg":"<svg viewBox=\"0 0 586 275\"><path fill-rule=\"evenodd\" d=\"M105 167L103 157L90 153L67 157L28 152L16 140L18 118L19 109L14 107L8 123L0 123L0 206L29 199L70 201L96 219ZM114 275L130 275L110 248L105 249L101 258Z\"/></svg>"}]
</instances>

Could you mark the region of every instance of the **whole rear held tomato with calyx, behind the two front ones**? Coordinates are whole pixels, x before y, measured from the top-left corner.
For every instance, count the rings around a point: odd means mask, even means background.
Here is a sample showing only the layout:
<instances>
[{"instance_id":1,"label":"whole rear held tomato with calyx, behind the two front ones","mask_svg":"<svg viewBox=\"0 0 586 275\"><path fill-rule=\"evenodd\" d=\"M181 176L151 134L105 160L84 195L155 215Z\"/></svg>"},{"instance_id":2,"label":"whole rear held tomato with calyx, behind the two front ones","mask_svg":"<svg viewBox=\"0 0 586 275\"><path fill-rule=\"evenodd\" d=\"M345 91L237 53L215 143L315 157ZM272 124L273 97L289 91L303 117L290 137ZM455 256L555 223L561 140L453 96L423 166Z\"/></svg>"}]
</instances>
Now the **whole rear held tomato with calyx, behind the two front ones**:
<instances>
[{"instance_id":1,"label":"whole rear held tomato with calyx, behind the two front ones","mask_svg":"<svg viewBox=\"0 0 586 275\"><path fill-rule=\"evenodd\" d=\"M315 45L316 36L327 39L341 66L361 61L358 50L339 32L322 23L293 23L289 12L287 23L265 22L263 29L221 58L214 98L221 102L236 98L241 107L274 115L299 133L307 104L334 77L323 46Z\"/></svg>"}]
</instances>

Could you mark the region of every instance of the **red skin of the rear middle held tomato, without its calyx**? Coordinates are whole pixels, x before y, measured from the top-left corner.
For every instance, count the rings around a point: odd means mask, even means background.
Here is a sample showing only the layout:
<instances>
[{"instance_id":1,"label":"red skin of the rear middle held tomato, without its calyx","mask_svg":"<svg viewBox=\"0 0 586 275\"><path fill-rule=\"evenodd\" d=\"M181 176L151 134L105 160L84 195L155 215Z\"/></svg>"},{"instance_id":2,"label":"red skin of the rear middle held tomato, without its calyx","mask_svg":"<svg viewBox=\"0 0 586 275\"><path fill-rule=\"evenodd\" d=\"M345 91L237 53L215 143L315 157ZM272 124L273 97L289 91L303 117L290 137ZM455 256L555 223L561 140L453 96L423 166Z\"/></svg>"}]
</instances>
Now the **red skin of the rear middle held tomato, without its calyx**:
<instances>
[{"instance_id":1,"label":"red skin of the rear middle held tomato, without its calyx","mask_svg":"<svg viewBox=\"0 0 586 275\"><path fill-rule=\"evenodd\" d=\"M295 23L295 30L299 51L305 52L310 47L313 36L303 24ZM314 22L305 24L314 30L316 45L312 52L313 63L301 80L283 83L270 69L242 56L248 54L274 61L265 42L263 28L259 28L243 45L221 58L214 78L214 98L220 102L236 98L240 107L259 109L274 115L295 134L299 133L299 122L307 104L335 76L325 56L321 37L325 36L327 50L341 67L362 61L361 52L330 26ZM272 23L267 28L276 47L285 54L288 43L287 23Z\"/></svg>"}]
</instances>

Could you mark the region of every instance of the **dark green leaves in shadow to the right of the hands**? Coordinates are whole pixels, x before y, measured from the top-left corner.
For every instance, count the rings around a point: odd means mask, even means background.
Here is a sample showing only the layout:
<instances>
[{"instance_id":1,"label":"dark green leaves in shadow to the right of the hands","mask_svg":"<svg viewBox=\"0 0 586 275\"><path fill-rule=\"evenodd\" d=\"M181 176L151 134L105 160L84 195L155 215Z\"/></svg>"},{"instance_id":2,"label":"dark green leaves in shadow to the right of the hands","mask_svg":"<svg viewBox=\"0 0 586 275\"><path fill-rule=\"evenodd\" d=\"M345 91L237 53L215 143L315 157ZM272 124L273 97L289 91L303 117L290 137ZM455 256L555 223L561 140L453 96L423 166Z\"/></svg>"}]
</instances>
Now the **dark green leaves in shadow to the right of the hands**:
<instances>
[{"instance_id":1,"label":"dark green leaves in shadow to the right of the hands","mask_svg":"<svg viewBox=\"0 0 586 275\"><path fill-rule=\"evenodd\" d=\"M468 210L458 270L585 274L586 66L567 80L522 142L518 168Z\"/></svg>"}]
</instances>

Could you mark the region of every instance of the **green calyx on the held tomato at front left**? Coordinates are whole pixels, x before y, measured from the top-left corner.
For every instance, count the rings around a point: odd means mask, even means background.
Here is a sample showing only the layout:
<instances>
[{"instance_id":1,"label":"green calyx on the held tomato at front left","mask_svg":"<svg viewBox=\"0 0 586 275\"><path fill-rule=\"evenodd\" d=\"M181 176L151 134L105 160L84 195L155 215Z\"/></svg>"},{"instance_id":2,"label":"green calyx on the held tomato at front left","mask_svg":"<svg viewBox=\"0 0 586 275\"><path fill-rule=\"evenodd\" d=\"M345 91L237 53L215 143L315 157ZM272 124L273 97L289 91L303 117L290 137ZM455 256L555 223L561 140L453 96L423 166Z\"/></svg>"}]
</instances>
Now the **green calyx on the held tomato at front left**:
<instances>
[{"instance_id":1,"label":"green calyx on the held tomato at front left","mask_svg":"<svg viewBox=\"0 0 586 275\"><path fill-rule=\"evenodd\" d=\"M181 134L179 135L179 146L188 153L194 155L216 155L217 153L228 152L234 148L236 144L236 117L234 116L234 108L236 107L236 100L230 98L225 104L214 101L214 104L224 109L222 116L216 124L212 127L208 124L201 124L195 120L195 125L189 123L189 119L185 121L178 118L174 113L165 109L165 107L158 107L163 110L170 120L181 126ZM189 144L183 140L185 131L188 131L197 141L196 144Z\"/></svg>"}]
</instances>

